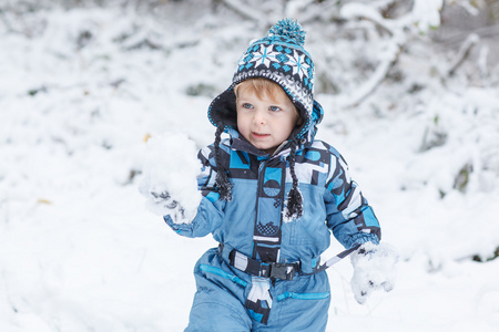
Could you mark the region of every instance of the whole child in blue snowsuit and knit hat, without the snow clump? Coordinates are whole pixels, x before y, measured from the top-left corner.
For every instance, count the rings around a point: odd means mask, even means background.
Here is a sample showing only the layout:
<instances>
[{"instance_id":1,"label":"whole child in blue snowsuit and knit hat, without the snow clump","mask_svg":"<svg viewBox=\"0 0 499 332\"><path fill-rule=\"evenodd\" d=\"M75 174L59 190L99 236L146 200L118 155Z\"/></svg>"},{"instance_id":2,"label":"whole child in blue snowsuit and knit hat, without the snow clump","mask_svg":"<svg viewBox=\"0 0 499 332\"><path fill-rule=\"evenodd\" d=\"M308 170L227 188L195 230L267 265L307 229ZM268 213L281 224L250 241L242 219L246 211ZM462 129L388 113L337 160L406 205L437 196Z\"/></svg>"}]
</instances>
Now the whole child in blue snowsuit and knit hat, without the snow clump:
<instances>
[{"instance_id":1,"label":"whole child in blue snowsuit and knit hat, without the snow clump","mask_svg":"<svg viewBox=\"0 0 499 332\"><path fill-rule=\"evenodd\" d=\"M279 21L249 45L232 85L212 102L217 129L198 154L195 217L186 219L171 193L151 194L171 210L164 220L177 234L212 234L220 242L195 267L185 331L324 331L330 293L319 259L329 231L347 249L363 245L353 260L361 262L353 284L359 302L373 289L391 288L393 263L385 270L369 263L393 257L376 246L373 209L339 153L314 139L323 108L313 97L304 39L297 22Z\"/></svg>"}]
</instances>

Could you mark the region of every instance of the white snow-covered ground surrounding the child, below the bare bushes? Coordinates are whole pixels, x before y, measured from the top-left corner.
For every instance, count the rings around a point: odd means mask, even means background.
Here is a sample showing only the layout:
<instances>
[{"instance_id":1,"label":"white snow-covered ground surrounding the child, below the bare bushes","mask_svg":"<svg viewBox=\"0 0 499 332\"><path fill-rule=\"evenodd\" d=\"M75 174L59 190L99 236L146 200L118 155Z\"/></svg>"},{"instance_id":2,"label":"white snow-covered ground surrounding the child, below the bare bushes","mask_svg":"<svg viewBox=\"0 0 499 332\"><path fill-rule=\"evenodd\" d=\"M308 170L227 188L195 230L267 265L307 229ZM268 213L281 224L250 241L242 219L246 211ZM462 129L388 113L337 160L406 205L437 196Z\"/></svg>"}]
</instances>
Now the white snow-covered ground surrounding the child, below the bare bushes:
<instances>
[{"instance_id":1,"label":"white snow-covered ground surrounding the child, below the bare bushes","mask_svg":"<svg viewBox=\"0 0 499 332\"><path fill-rule=\"evenodd\" d=\"M244 25L215 40L196 23L190 34L119 10L10 22L0 25L0 331L181 331L194 263L216 243L179 237L146 211L139 173L150 135L212 142L203 94L213 92L185 91L228 85L243 49L214 50L224 40L244 45ZM326 110L318 136L344 154L401 255L395 290L366 305L353 298L348 260L329 270L328 331L497 331L499 260L471 257L499 245L499 100L497 90L454 84L417 101L385 86L347 111L317 96ZM389 96L400 102L391 112ZM420 152L428 128L448 139ZM465 194L452 185L468 162Z\"/></svg>"}]
</instances>

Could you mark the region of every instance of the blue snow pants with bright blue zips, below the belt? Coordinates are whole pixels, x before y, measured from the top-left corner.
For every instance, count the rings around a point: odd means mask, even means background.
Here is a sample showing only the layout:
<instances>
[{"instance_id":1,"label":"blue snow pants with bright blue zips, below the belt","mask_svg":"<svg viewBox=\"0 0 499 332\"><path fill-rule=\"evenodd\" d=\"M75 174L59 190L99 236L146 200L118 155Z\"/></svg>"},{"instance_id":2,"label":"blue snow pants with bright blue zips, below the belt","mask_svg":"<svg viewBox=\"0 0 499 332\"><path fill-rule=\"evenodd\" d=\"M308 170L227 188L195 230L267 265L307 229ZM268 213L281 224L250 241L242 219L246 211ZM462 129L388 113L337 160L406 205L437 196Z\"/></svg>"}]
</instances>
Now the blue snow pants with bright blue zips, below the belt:
<instances>
[{"instance_id":1,"label":"blue snow pants with bright blue zips, below the belt","mask_svg":"<svg viewBox=\"0 0 499 332\"><path fill-rule=\"evenodd\" d=\"M194 331L325 331L330 303L325 271L269 282L272 309L267 324L252 319L245 308L252 276L231 267L216 248L206 251L194 268L197 291L189 326Z\"/></svg>"}]
</instances>

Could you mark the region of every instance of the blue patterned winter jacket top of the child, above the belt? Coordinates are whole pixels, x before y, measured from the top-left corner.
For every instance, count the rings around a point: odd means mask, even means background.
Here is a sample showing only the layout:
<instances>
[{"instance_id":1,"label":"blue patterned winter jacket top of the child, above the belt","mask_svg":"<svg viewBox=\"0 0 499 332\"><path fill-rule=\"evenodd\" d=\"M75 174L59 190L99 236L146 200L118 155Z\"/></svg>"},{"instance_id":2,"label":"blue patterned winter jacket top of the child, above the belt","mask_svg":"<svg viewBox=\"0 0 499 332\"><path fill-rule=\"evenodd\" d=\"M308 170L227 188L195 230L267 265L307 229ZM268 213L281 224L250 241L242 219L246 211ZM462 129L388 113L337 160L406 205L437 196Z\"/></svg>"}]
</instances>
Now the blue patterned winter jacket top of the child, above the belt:
<instances>
[{"instance_id":1,"label":"blue patterned winter jacket top of the child, above the belt","mask_svg":"<svg viewBox=\"0 0 499 332\"><path fill-rule=\"evenodd\" d=\"M329 247L330 232L345 247L371 241L378 243L377 218L352 180L340 154L327 143L314 139L323 110L314 105L307 135L296 148L295 170L303 196L303 216L285 220L283 208L292 188L289 146L285 142L271 156L253 147L234 128L223 139L222 163L233 185L232 200L218 199L215 177L218 167L214 146L198 153L202 174L197 178L203 194L191 224L165 221L185 237L212 234L221 243L265 262L302 262L305 273L317 267Z\"/></svg>"}]
</instances>

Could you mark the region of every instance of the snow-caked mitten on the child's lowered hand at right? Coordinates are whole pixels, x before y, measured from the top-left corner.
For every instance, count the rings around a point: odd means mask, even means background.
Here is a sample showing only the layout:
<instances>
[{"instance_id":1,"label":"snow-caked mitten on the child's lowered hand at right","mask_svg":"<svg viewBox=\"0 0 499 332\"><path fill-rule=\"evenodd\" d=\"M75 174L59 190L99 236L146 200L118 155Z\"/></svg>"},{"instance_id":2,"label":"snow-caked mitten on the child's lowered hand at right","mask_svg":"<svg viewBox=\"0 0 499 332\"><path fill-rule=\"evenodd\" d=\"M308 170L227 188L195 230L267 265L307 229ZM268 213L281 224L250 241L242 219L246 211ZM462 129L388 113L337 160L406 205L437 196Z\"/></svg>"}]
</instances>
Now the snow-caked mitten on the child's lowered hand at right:
<instances>
[{"instance_id":1,"label":"snow-caked mitten on the child's lowered hand at right","mask_svg":"<svg viewBox=\"0 0 499 332\"><path fill-rule=\"evenodd\" d=\"M366 242L350 258L354 266L350 284L358 303L364 304L374 290L394 289L398 253L393 246Z\"/></svg>"}]
</instances>

